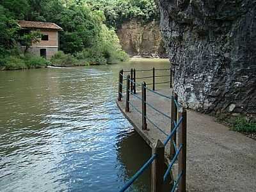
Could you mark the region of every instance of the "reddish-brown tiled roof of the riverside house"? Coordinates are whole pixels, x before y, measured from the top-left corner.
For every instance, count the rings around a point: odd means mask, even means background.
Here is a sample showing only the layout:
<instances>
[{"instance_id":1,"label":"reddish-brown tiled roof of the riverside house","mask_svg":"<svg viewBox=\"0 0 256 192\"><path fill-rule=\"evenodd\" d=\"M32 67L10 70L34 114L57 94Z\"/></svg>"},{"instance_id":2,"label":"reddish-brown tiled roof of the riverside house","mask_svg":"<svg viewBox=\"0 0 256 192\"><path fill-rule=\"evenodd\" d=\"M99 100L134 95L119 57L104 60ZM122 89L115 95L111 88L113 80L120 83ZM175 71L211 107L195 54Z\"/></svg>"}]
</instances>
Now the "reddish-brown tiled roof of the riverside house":
<instances>
[{"instance_id":1,"label":"reddish-brown tiled roof of the riverside house","mask_svg":"<svg viewBox=\"0 0 256 192\"><path fill-rule=\"evenodd\" d=\"M55 29L58 31L63 31L63 29L52 23L52 22L37 22L28 20L19 20L18 24L21 28L36 28L36 29Z\"/></svg>"}]
</instances>

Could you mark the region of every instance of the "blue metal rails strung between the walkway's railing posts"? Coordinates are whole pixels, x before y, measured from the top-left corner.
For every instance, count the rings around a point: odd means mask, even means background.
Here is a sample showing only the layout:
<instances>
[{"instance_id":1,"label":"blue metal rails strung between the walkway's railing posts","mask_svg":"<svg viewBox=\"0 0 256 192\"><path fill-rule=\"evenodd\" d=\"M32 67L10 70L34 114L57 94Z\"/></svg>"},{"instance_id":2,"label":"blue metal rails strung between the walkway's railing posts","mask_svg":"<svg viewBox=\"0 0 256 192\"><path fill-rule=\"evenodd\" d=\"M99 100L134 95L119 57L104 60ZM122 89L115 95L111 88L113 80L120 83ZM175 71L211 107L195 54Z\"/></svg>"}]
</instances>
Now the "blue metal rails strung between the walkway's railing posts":
<instances>
[{"instance_id":1,"label":"blue metal rails strung between the walkway's railing posts","mask_svg":"<svg viewBox=\"0 0 256 192\"><path fill-rule=\"evenodd\" d=\"M150 70L151 70L151 69L150 69ZM137 72L144 72L144 71L150 71L150 70L136 70L136 71L137 71ZM170 70L170 68L156 69L156 70L159 70L159 71L161 71L161 70ZM125 72L131 72L131 71L125 71ZM121 75L122 75L123 77L125 77L124 74L121 74ZM155 77L161 77L161 76L155 76ZM163 77L166 77L166 76L163 76ZM147 79L147 78L150 78L150 77L148 77L148 76L147 76L147 77L138 77L138 78L136 78L136 79ZM124 80L126 80L126 79L124 79ZM136 83L135 79L128 79L128 80L132 83L131 86L140 86L140 85L141 85L141 84ZM161 82L161 83L155 83L155 84L163 84L163 83L170 83L170 81ZM119 83L119 84L123 86L122 83ZM154 91L154 90L151 90L150 88L147 88L147 86L145 86L145 88L146 88L148 91L150 91L150 92L152 92L152 93L155 93L156 95L159 95L159 96L164 97L164 98L166 98L166 99L173 99L173 100L174 100L174 103L175 103L175 106L176 106L177 109L182 107L182 106L177 102L177 100L176 100L173 96L171 96L171 97L166 96L166 95L164 95L164 94L162 94L162 93L159 93L159 92L156 92L156 91ZM123 90L124 90L124 89L126 89L126 87L123 88ZM129 90L129 88L128 88L128 90ZM119 93L120 93L120 94L122 95L122 97L123 97L123 93L122 93L122 92L119 92ZM139 99L139 100L142 101L142 98L139 97L138 95L136 95L135 93L133 93L131 90L129 90L129 93L132 94L132 95L134 96L134 98ZM141 115L143 115L142 112L141 112L138 108L136 108L136 106L134 106L134 104L132 104L131 100L129 101L129 104L130 104L130 105L132 106L132 108L135 109L138 113L140 113ZM171 117L171 116L166 115L165 113L163 113L163 112L160 111L159 109L156 109L154 106L152 106L152 104L149 104L148 102L145 102L145 104L147 104L147 106L149 106L150 108L152 108L154 111L157 111L157 113L160 113L161 115L165 116L166 118L169 118L170 120L172 120L172 117ZM177 129L179 129L180 123L181 123L182 120L183 120L182 117L179 119L178 122L175 122L175 121L173 120L173 122L174 122L174 128L173 128L173 130L172 130L172 132L171 132L170 134L167 134L166 132L163 131L163 129L161 129L161 127L159 127L159 126L156 125L154 122L152 122L152 120L150 120L150 118L148 118L147 115L145 116L145 118L147 118L148 122L150 122L152 125L154 125L154 127L156 127L156 128L157 128L159 131L161 131L165 136L167 136L166 140L164 140L164 143L163 143L164 147L166 147L166 145L168 144L168 142L169 142L170 140L172 140L174 134L177 132ZM168 166L166 172L164 173L164 176L163 176L163 180L164 180L164 181L167 179L168 174L170 173L170 170L172 170L173 164L175 163L175 161L177 161L177 158L178 158L178 156L179 156L179 154L180 154L180 151L182 150L182 147L183 147L183 145L180 144L179 148L177 148L177 146L175 145L175 141L171 141L171 143L172 143L172 145L173 145L174 148L175 148L175 155L173 156L173 159L172 159L171 163L169 164L169 166ZM156 159L156 157L157 157L157 155L156 155L156 154L153 154L152 157L150 157L150 159L148 159L148 161L147 161L145 164L143 164L143 166L141 166L140 170L138 170L138 172L136 172L136 173L131 177L131 179L129 179L129 181L125 184L125 186L124 186L122 189L120 189L119 192L124 192L126 189L128 189L128 188L134 183L134 181L135 181L136 179L138 179L138 177L140 177L140 175L148 168L148 166L150 166L150 164L153 163L153 161ZM175 189L177 188L177 184L179 184L179 180L180 180L180 178L182 177L183 173L184 173L184 172L181 172L181 173L179 174L178 179L177 179L176 181L174 181L173 188L171 189L172 192L175 191Z\"/></svg>"}]
</instances>

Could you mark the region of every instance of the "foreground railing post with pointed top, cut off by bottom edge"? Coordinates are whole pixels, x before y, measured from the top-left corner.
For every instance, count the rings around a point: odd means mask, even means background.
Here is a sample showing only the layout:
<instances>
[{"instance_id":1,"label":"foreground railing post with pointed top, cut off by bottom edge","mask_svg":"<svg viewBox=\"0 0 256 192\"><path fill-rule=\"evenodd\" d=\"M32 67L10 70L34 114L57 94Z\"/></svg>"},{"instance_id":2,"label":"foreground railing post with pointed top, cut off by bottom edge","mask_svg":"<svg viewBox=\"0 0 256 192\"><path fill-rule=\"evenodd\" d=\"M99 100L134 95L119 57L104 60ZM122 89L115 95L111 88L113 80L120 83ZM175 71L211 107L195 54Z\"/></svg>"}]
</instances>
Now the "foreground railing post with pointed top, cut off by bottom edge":
<instances>
[{"instance_id":1,"label":"foreground railing post with pointed top, cut off by bottom edge","mask_svg":"<svg viewBox=\"0 0 256 192\"><path fill-rule=\"evenodd\" d=\"M156 159L152 163L151 192L163 192L164 180L164 145L160 140L152 148L152 154L156 154Z\"/></svg>"}]
</instances>

